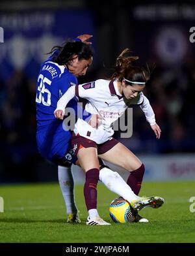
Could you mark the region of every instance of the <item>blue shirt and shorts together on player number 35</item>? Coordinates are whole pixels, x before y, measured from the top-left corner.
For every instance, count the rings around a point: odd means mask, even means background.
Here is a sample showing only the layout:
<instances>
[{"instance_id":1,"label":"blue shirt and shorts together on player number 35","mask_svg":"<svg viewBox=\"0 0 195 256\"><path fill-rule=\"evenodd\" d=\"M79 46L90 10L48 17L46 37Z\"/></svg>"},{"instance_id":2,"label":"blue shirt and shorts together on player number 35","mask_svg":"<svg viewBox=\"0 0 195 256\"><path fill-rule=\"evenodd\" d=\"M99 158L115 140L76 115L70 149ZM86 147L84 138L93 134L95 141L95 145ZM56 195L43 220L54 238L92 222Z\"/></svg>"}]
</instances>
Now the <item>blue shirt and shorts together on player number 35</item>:
<instances>
[{"instance_id":1,"label":"blue shirt and shorts together on player number 35","mask_svg":"<svg viewBox=\"0 0 195 256\"><path fill-rule=\"evenodd\" d=\"M42 64L36 86L36 141L38 151L51 161L64 157L71 148L72 131L64 129L63 121L56 119L53 112L60 97L70 86L77 84L77 78L64 65L54 63L52 58L53 55ZM73 98L67 107L73 108L77 115L77 98Z\"/></svg>"}]
</instances>

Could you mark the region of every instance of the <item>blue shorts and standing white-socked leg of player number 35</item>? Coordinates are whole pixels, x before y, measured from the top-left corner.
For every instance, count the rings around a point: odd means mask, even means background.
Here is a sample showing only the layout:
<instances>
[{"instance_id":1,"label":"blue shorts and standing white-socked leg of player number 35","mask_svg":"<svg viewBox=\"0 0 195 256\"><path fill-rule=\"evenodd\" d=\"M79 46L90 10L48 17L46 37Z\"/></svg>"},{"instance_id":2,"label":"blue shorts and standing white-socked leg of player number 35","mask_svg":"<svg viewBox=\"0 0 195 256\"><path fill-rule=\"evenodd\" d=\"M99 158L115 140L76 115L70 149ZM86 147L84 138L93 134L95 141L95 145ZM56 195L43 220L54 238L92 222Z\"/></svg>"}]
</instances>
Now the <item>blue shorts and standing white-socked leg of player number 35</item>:
<instances>
[{"instance_id":1,"label":"blue shorts and standing white-socked leg of player number 35","mask_svg":"<svg viewBox=\"0 0 195 256\"><path fill-rule=\"evenodd\" d=\"M69 152L71 144L70 141L67 141L67 134L64 133L62 125L54 128L53 131L49 128L49 136L47 136L47 129L36 134L38 150L42 157L58 165L59 185L66 204L67 221L71 223L80 222L77 215L78 210L75 203L74 182L71 170L73 158L73 152Z\"/></svg>"}]
</instances>

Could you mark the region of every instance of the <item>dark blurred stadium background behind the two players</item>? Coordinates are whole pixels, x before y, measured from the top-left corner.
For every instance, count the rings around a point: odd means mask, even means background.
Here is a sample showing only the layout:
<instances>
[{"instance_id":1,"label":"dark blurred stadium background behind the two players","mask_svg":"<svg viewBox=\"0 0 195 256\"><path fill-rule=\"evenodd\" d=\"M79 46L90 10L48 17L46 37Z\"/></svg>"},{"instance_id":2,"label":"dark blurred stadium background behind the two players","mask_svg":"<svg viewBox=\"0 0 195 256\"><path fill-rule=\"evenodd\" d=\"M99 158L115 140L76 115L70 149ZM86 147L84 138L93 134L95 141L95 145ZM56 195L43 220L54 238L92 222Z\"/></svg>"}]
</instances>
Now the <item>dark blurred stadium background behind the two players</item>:
<instances>
[{"instance_id":1,"label":"dark blurred stadium background behind the two players","mask_svg":"<svg viewBox=\"0 0 195 256\"><path fill-rule=\"evenodd\" d=\"M2 0L0 184L57 181L57 166L36 149L36 78L45 53L84 33L94 35L95 56L80 83L108 76L127 47L140 56L138 65L156 65L144 94L162 137L155 138L136 106L133 136L121 139L146 165L145 179L195 179L194 26L194 1ZM82 179L75 170L76 182Z\"/></svg>"}]
</instances>

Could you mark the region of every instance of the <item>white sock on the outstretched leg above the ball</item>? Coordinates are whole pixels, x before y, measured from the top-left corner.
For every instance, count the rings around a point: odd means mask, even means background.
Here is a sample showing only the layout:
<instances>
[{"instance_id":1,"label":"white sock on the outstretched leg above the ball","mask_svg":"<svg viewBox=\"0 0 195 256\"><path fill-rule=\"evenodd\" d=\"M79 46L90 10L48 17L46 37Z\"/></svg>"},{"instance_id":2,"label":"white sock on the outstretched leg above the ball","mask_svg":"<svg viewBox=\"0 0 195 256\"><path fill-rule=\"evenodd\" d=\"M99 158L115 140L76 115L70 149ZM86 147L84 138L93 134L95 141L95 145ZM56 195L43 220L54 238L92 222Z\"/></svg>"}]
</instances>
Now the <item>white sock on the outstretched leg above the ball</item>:
<instances>
[{"instance_id":1,"label":"white sock on the outstretched leg above the ball","mask_svg":"<svg viewBox=\"0 0 195 256\"><path fill-rule=\"evenodd\" d=\"M99 180L112 192L120 195L123 199L131 202L139 197L133 193L131 187L126 184L118 172L113 172L107 167L99 171Z\"/></svg>"}]
</instances>

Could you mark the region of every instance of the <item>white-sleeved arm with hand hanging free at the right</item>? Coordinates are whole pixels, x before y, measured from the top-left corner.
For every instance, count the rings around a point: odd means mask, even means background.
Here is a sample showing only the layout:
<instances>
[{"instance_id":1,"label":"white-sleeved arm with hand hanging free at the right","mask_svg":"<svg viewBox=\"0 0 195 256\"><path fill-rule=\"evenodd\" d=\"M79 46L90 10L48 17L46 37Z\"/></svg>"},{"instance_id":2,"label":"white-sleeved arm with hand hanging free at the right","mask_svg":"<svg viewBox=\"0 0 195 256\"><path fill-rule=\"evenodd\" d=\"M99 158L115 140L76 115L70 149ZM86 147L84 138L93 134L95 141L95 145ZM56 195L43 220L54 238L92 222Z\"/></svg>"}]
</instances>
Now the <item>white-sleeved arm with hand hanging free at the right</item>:
<instances>
[{"instance_id":1,"label":"white-sleeved arm with hand hanging free at the right","mask_svg":"<svg viewBox=\"0 0 195 256\"><path fill-rule=\"evenodd\" d=\"M140 108L144 112L146 116L146 120L150 124L151 129L155 133L157 138L161 137L161 128L159 125L157 125L156 120L155 120L155 114L153 112L153 108L149 104L148 98L142 93L142 104L140 104Z\"/></svg>"}]
</instances>

